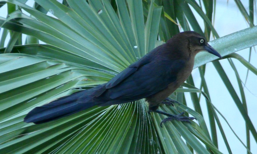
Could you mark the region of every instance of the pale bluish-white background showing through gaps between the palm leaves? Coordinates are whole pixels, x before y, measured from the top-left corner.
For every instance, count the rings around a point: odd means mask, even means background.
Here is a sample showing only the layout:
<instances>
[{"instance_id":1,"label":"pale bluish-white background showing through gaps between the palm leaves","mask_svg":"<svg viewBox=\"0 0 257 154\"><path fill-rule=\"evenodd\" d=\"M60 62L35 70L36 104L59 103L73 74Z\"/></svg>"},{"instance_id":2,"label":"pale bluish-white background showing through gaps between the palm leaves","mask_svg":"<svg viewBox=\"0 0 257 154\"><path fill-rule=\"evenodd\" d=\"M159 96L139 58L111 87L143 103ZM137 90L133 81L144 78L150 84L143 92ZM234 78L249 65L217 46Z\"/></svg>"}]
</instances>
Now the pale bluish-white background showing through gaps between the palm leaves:
<instances>
[{"instance_id":1,"label":"pale bluish-white background showing through gaps between the palm leaves","mask_svg":"<svg viewBox=\"0 0 257 154\"><path fill-rule=\"evenodd\" d=\"M248 10L248 0L242 0L242 3L244 7L246 7L246 10ZM27 2L27 5L33 6L33 1L29 0ZM191 7L192 8L192 7ZM255 8L256 9L256 8ZM192 9L194 11L194 9ZM199 21L200 26L202 29L204 28L203 21L201 17L194 11L194 14L196 15L197 20ZM0 9L0 16L6 17L7 15L7 8L6 6L3 6ZM256 24L256 12L254 15L254 24ZM238 7L236 6L235 2L233 0L216 0L216 14L215 14L215 23L214 28L218 32L219 36L225 36L231 33L234 33L236 31L240 31L242 29L248 28L248 24L244 20L244 17L240 13ZM0 35L2 33L2 30L0 32ZM256 36L257 37L257 36ZM24 39L25 40L25 39ZM5 45L7 44L7 41L5 42ZM256 48L256 47L255 47ZM246 60L248 60L249 56L249 49L244 49L241 51L236 52L243 56ZM234 64L236 65L236 68L239 72L241 80L244 82L246 78L246 72L247 69L244 67L240 62L233 59ZM232 70L230 64L228 63L227 59L220 60L220 63L222 64L225 72L227 73L230 81L232 82L238 96L240 97L240 92L238 88L238 84L236 81L236 76L234 74L234 71ZM252 50L251 55L251 61L250 63L257 67L257 53L255 50ZM195 86L199 88L200 85L200 75L198 72L198 69L193 70L192 72ZM228 120L231 127L234 129L236 134L240 137L240 139L246 144L246 132L245 132L245 123L244 119L242 118L240 112L238 111L234 101L232 100L230 94L228 93L228 90L226 89L225 85L223 84L220 76L218 75L216 69L214 68L212 63L208 63L206 65L206 73L205 73L205 79L207 82L208 90L210 92L211 101L218 108L218 110L223 114L223 116ZM246 88L244 88L244 92L246 95L246 102L248 107L248 114L250 116L250 119L252 120L252 123L254 124L255 129L257 129L257 76L249 71L248 74L248 81L246 82ZM188 107L193 108L192 104L190 102L190 94L186 94L186 100L188 103ZM202 97L203 98L203 97ZM202 111L204 114L204 117L206 117L206 124L208 126L208 115L206 112L206 103L204 99L201 99L200 104L202 106ZM217 113L218 114L218 113ZM243 145L240 143L240 141L236 138L236 136L233 134L233 132L230 130L226 122L222 119L221 116L219 116L220 121L222 123L222 127L226 133L226 137L228 139L228 142L230 144L230 148L232 150L232 153L246 153L246 149L243 147ZM218 127L216 127L218 130ZM210 130L210 128L208 127ZM223 142L222 136L220 132L218 132L218 143L219 143L219 150L222 153L228 153L226 150L226 146ZM251 151L252 153L257 153L257 144L254 141L254 138L251 136Z\"/></svg>"}]
</instances>

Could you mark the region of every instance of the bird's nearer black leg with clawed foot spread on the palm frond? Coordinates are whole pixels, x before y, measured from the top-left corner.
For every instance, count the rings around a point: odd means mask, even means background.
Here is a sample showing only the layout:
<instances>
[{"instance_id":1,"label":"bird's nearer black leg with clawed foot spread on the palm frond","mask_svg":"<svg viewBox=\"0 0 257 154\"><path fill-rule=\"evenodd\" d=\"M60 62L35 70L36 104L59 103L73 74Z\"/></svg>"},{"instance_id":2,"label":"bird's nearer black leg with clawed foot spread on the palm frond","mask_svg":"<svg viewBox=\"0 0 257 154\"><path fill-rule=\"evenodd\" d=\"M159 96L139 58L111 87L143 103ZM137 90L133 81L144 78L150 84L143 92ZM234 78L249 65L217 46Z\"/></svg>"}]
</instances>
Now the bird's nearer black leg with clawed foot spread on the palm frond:
<instances>
[{"instance_id":1,"label":"bird's nearer black leg with clawed foot spread on the palm frond","mask_svg":"<svg viewBox=\"0 0 257 154\"><path fill-rule=\"evenodd\" d=\"M163 119L162 122L160 123L160 126L162 127L162 123L165 123L166 121L171 121L171 120L178 120L178 121L185 121L185 122L189 122L189 119L191 120L194 120L196 118L194 117L187 117L187 116L182 116L184 114L184 112L180 113L180 114L177 114L177 115L174 115L174 114L168 114L166 112L163 112L161 110L156 110L156 111L151 111L151 110L148 110L148 113L149 112L156 112L156 113L159 113L159 114L163 114L165 116L168 116L167 118Z\"/></svg>"}]
</instances>

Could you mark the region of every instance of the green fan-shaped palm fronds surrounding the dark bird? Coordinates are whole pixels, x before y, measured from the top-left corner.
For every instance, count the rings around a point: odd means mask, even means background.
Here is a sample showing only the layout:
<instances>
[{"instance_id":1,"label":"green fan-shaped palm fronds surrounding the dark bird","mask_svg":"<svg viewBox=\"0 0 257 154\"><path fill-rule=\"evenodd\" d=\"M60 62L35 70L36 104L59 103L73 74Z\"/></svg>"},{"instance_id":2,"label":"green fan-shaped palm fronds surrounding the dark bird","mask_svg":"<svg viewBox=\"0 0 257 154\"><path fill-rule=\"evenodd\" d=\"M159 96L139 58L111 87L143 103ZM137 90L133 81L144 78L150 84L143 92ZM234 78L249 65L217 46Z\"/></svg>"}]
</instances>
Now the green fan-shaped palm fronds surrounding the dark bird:
<instances>
[{"instance_id":1,"label":"green fan-shaped palm fronds surrounding the dark bird","mask_svg":"<svg viewBox=\"0 0 257 154\"><path fill-rule=\"evenodd\" d=\"M161 128L160 121L165 117L147 114L147 103L138 100L95 106L41 125L23 122L36 106L109 81L179 31L190 30L190 26L208 40L211 35L216 38L209 43L236 73L240 95L220 62L212 62L222 78L220 84L226 86L245 120L247 142L241 143L251 153L250 132L254 143L257 133L247 114L243 84L231 58L257 74L252 64L234 53L257 45L253 0L249 1L249 10L235 0L250 28L221 38L212 26L215 0L35 0L33 7L26 2L0 1L0 7L8 8L7 18L0 17L0 153L221 153L217 131L228 153L232 153L204 78L205 64L217 57L204 52L197 55L194 66L200 72L200 88L194 86L190 76L170 96L182 105L160 106L160 110L172 114L186 111L197 121L172 121ZM202 17L204 31L189 6ZM11 38L4 47L8 33ZM21 34L27 35L25 44ZM46 44L39 44L39 40ZM183 92L190 92L194 109L186 106ZM200 98L206 100L207 109L201 108ZM203 119L202 110L208 111L209 123Z\"/></svg>"}]
</instances>

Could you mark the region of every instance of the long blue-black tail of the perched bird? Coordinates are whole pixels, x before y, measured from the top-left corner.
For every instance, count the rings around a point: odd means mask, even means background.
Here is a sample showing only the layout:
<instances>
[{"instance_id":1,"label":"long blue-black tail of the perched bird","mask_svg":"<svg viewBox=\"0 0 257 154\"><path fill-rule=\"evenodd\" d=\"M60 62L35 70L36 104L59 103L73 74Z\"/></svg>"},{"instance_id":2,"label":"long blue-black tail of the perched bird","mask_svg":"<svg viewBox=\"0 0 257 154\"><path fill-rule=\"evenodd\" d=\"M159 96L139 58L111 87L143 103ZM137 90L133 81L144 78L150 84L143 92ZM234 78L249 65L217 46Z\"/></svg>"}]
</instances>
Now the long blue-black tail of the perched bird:
<instances>
[{"instance_id":1,"label":"long blue-black tail of the perched bird","mask_svg":"<svg viewBox=\"0 0 257 154\"><path fill-rule=\"evenodd\" d=\"M87 101L87 97L88 96L85 95L85 90L83 90L43 106L36 107L27 114L24 118L24 122L33 122L35 124L45 123L98 105L97 102Z\"/></svg>"}]
</instances>

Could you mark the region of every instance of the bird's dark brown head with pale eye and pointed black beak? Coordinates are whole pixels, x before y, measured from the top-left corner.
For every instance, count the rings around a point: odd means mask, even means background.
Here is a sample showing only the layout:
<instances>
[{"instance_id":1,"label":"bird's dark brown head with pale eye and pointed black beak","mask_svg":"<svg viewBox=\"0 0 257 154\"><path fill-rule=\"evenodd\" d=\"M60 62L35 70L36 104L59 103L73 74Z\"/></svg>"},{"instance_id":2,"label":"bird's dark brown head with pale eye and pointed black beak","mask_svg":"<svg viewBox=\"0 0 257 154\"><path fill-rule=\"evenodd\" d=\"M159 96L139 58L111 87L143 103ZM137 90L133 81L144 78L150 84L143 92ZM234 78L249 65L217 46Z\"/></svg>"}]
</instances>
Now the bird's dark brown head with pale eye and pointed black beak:
<instances>
[{"instance_id":1,"label":"bird's dark brown head with pale eye and pointed black beak","mask_svg":"<svg viewBox=\"0 0 257 154\"><path fill-rule=\"evenodd\" d=\"M174 37L175 39L184 40L184 45L189 49L186 50L189 52L189 55L195 56L200 51L207 51L221 58L221 55L207 43L205 38L194 31L181 32L174 35Z\"/></svg>"}]
</instances>

